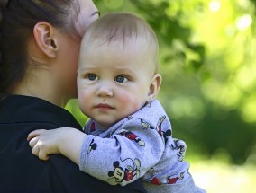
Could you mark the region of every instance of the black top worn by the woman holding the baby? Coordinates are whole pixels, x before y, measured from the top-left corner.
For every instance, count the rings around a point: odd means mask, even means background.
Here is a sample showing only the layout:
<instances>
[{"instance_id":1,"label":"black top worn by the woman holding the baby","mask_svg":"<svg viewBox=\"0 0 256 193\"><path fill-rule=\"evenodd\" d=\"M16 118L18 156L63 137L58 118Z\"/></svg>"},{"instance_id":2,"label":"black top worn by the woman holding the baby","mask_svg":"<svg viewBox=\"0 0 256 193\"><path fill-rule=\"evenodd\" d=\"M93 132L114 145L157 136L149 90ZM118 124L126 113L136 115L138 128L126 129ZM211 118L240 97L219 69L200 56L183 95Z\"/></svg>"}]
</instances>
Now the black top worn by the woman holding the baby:
<instances>
[{"instance_id":1,"label":"black top worn by the woman holding the baby","mask_svg":"<svg viewBox=\"0 0 256 193\"><path fill-rule=\"evenodd\" d=\"M125 187L111 186L79 171L60 154L50 155L47 162L39 160L26 140L28 134L56 127L81 129L69 111L48 101L16 95L0 101L0 192L145 192L141 180Z\"/></svg>"}]
</instances>

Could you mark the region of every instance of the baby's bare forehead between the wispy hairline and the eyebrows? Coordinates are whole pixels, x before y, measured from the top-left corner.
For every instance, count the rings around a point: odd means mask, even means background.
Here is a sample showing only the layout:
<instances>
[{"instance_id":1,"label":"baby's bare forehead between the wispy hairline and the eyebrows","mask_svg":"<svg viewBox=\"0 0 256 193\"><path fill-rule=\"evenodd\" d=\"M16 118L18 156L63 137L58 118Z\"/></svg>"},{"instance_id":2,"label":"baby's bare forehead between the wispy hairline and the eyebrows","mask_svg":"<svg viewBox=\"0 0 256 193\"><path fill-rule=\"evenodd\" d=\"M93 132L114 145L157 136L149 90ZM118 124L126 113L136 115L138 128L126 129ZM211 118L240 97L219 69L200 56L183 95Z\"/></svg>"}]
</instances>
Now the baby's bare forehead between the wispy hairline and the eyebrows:
<instances>
[{"instance_id":1,"label":"baby's bare forehead between the wispy hairline and the eyebrows","mask_svg":"<svg viewBox=\"0 0 256 193\"><path fill-rule=\"evenodd\" d=\"M150 46L137 41L138 39L136 41L133 39L124 44L122 41L95 42L91 45L91 48L87 48L87 51L85 51L87 55L82 57L84 62L81 65L94 64L94 67L101 68L112 64L113 72L116 69L119 74L122 74L122 72L125 74L130 71L129 69L136 72L139 68L156 73L158 71L157 54L151 50Z\"/></svg>"}]
</instances>

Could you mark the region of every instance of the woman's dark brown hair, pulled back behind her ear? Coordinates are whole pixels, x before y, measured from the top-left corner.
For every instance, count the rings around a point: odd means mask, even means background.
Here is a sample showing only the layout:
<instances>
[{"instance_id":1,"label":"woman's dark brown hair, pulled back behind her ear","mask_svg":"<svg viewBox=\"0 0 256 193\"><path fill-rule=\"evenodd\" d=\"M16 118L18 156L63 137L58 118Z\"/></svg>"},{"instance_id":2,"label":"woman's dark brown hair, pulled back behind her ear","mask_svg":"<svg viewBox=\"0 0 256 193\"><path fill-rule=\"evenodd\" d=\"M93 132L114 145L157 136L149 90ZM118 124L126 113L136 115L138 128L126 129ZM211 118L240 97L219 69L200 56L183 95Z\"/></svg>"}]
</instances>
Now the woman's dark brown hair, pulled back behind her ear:
<instances>
[{"instance_id":1,"label":"woman's dark brown hair, pulled back behind her ear","mask_svg":"<svg viewBox=\"0 0 256 193\"><path fill-rule=\"evenodd\" d=\"M28 42L35 24L49 22L74 33L76 11L76 0L0 0L0 98L25 74L30 58Z\"/></svg>"}]
</instances>

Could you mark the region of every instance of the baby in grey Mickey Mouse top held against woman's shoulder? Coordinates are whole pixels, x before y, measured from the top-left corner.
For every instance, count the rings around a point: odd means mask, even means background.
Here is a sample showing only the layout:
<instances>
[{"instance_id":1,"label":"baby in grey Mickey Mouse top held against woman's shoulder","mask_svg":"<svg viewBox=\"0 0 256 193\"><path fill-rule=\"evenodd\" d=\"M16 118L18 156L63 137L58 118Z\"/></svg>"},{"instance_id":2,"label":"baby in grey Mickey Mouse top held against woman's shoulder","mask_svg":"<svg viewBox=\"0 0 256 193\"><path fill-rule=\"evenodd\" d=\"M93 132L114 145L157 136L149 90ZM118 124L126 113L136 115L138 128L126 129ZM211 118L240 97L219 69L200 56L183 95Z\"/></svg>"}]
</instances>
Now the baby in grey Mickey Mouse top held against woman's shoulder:
<instances>
[{"instance_id":1,"label":"baby in grey Mickey Mouse top held against woman's shoulder","mask_svg":"<svg viewBox=\"0 0 256 193\"><path fill-rule=\"evenodd\" d=\"M32 153L42 160L63 154L112 185L142 177L148 192L205 192L194 184L183 161L186 144L172 137L156 100L158 52L154 31L133 13L108 13L94 22L78 66L78 105L90 118L85 133L67 127L33 131Z\"/></svg>"}]
</instances>

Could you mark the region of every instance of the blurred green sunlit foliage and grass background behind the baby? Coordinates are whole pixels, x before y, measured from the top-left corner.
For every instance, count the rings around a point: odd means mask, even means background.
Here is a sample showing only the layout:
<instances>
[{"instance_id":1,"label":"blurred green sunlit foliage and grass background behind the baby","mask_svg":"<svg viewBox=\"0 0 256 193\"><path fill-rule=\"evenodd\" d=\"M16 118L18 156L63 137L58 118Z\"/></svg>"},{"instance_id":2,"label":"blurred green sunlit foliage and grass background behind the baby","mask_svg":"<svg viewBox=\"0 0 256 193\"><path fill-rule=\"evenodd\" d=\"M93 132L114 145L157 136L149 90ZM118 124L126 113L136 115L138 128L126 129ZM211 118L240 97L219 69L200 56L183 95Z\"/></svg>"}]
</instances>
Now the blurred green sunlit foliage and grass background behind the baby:
<instances>
[{"instance_id":1,"label":"blurred green sunlit foliage and grass background behind the baby","mask_svg":"<svg viewBox=\"0 0 256 193\"><path fill-rule=\"evenodd\" d=\"M95 0L140 14L160 41L158 99L208 192L256 192L256 0ZM67 109L84 125L77 101Z\"/></svg>"}]
</instances>

